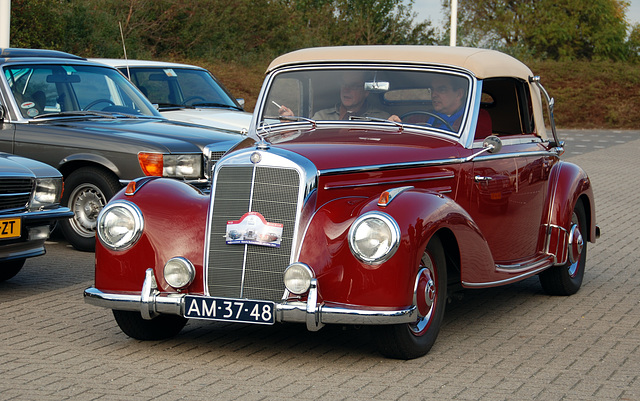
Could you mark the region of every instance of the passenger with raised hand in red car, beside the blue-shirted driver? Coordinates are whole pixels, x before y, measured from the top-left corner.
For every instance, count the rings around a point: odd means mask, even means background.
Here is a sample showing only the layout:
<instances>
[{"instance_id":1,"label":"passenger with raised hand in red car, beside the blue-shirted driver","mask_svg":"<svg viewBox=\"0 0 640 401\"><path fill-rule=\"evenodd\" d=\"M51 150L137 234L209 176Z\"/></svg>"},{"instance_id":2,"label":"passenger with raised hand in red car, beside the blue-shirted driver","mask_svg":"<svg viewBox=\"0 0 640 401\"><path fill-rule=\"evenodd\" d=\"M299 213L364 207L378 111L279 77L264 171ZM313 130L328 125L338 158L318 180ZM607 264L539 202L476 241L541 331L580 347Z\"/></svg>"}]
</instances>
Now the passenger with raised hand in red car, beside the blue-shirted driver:
<instances>
[{"instance_id":1,"label":"passenger with raised hand in red car, beside the blue-shirted driver","mask_svg":"<svg viewBox=\"0 0 640 401\"><path fill-rule=\"evenodd\" d=\"M390 121L400 122L400 118L396 115L390 115L386 111L371 107L367 101L369 92L364 90L365 72L364 71L345 71L342 74L342 83L340 85L340 103L334 107L320 110L316 112L312 119L314 120L349 120L349 117L372 117L388 119ZM281 117L291 117L293 112L286 106L281 106L278 110Z\"/></svg>"}]
</instances>

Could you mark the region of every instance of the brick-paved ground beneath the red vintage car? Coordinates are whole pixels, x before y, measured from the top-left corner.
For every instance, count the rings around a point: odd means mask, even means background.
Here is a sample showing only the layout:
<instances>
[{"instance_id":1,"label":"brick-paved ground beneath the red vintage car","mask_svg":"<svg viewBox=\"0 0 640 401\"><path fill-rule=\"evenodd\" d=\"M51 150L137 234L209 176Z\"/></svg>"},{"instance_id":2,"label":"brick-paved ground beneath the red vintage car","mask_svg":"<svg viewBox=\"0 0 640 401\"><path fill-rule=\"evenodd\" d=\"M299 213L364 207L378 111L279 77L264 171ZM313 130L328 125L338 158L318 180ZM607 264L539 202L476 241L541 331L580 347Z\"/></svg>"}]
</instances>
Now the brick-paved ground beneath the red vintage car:
<instances>
[{"instance_id":1,"label":"brick-paved ground beneath the red vintage car","mask_svg":"<svg viewBox=\"0 0 640 401\"><path fill-rule=\"evenodd\" d=\"M544 295L536 278L467 291L411 361L382 358L366 329L190 322L140 342L83 302L93 254L54 238L0 283L0 399L638 400L640 131L630 134L568 152L593 181L603 229L574 296Z\"/></svg>"}]
</instances>

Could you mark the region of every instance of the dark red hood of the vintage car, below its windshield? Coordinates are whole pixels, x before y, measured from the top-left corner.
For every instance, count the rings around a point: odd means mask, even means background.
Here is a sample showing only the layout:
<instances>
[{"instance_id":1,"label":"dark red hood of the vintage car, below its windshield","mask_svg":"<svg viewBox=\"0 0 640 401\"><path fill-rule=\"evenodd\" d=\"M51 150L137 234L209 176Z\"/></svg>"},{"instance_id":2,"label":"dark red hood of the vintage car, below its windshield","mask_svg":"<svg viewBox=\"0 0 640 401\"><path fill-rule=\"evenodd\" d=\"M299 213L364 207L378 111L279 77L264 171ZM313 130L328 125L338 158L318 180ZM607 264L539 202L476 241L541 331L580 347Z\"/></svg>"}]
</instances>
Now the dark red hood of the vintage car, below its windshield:
<instances>
[{"instance_id":1,"label":"dark red hood of the vintage car, below its windshield","mask_svg":"<svg viewBox=\"0 0 640 401\"><path fill-rule=\"evenodd\" d=\"M311 160L319 170L445 160L463 152L454 137L386 128L296 130L268 139Z\"/></svg>"}]
</instances>

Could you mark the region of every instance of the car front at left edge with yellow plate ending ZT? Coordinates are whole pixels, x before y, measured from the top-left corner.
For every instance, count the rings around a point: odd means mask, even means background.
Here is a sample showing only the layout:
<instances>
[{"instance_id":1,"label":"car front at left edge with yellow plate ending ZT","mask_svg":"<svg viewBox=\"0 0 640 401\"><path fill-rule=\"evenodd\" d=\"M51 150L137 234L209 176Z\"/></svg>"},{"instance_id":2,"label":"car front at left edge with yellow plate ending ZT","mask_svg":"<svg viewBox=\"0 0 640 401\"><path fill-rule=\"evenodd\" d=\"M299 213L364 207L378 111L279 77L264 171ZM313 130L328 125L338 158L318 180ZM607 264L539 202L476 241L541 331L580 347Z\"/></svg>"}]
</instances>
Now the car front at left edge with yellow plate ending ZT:
<instances>
[{"instance_id":1,"label":"car front at left edge with yellow plate ending ZT","mask_svg":"<svg viewBox=\"0 0 640 401\"><path fill-rule=\"evenodd\" d=\"M43 255L51 227L73 216L60 206L62 175L44 163L0 152L0 281Z\"/></svg>"}]
</instances>

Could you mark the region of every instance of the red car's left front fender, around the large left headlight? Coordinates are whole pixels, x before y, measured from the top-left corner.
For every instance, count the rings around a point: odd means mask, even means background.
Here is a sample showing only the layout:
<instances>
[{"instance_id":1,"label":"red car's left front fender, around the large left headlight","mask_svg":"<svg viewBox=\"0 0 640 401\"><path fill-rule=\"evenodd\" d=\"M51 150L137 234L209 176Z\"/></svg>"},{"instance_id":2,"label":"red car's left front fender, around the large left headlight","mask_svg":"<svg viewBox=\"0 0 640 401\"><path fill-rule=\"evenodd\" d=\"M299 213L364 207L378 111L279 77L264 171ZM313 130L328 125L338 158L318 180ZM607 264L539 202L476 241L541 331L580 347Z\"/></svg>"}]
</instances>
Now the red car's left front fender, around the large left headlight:
<instances>
[{"instance_id":1,"label":"red car's left front fender, around the large left headlight","mask_svg":"<svg viewBox=\"0 0 640 401\"><path fill-rule=\"evenodd\" d=\"M154 269L158 288L164 282L164 264L182 256L193 263L196 279L189 291L203 293L203 263L209 197L191 185L158 178L147 181L134 195L122 190L114 200L132 202L144 218L142 236L133 247L114 251L96 241L96 288L101 291L140 291L145 270Z\"/></svg>"}]
</instances>

